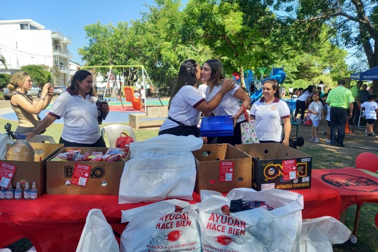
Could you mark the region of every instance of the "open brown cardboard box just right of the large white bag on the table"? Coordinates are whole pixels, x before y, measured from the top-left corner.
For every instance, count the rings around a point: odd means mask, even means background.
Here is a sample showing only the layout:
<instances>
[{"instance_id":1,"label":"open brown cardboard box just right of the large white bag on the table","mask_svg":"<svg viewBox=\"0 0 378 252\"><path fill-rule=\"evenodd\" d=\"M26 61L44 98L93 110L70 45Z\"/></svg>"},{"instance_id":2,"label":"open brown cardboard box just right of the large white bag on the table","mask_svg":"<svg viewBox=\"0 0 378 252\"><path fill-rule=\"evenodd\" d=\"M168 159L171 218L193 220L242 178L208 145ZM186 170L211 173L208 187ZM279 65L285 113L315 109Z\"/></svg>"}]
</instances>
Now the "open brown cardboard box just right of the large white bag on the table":
<instances>
[{"instance_id":1,"label":"open brown cardboard box just right of the large white bag on the table","mask_svg":"<svg viewBox=\"0 0 378 252\"><path fill-rule=\"evenodd\" d=\"M233 188L252 187L252 159L230 144L204 144L192 152L196 162L194 190L228 193ZM228 175L227 175L228 173Z\"/></svg>"}]
</instances>

